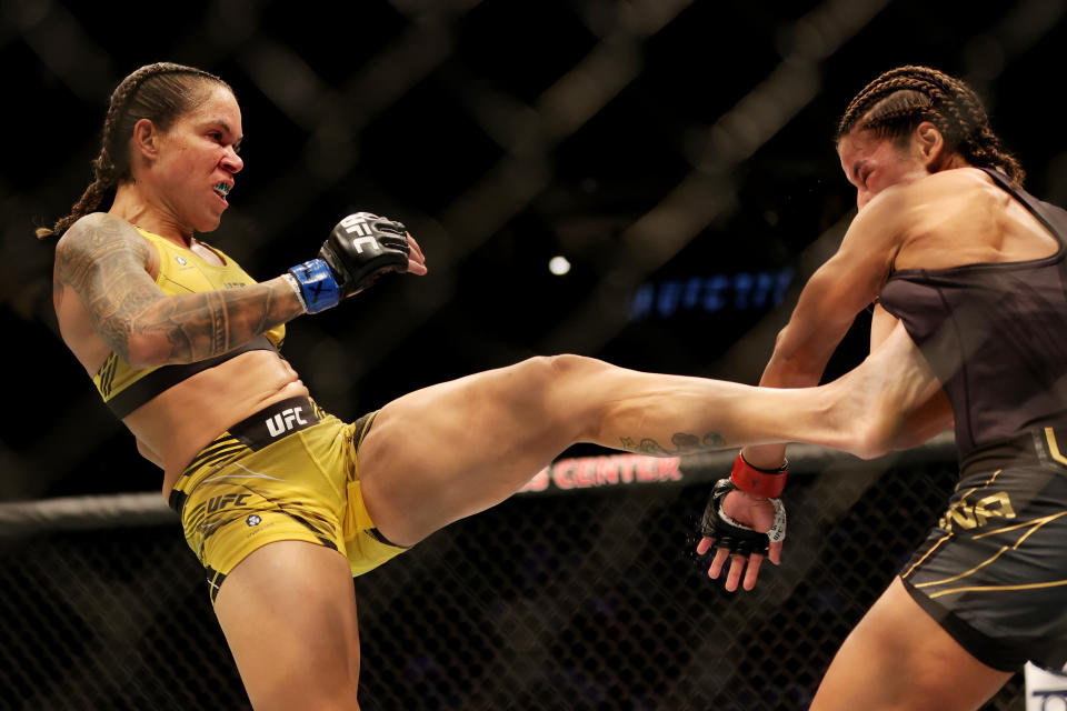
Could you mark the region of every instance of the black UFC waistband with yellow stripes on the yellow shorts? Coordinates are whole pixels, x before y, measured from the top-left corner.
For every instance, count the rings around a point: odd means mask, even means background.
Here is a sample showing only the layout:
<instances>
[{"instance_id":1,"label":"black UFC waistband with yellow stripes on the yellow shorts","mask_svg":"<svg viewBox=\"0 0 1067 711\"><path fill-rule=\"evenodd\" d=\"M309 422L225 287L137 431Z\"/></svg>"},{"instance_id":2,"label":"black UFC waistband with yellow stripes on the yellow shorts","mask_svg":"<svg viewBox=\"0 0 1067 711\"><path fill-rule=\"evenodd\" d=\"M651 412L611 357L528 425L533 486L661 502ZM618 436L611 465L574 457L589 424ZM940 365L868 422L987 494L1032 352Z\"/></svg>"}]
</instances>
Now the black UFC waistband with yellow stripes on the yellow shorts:
<instances>
[{"instance_id":1,"label":"black UFC waistband with yellow stripes on the yellow shorts","mask_svg":"<svg viewBox=\"0 0 1067 711\"><path fill-rule=\"evenodd\" d=\"M227 462L248 452L257 452L265 447L318 424L326 412L310 398L297 397L280 400L230 425L225 432L200 450L174 482L167 500L177 513L186 502L186 490L197 471L206 467L222 467Z\"/></svg>"}]
</instances>

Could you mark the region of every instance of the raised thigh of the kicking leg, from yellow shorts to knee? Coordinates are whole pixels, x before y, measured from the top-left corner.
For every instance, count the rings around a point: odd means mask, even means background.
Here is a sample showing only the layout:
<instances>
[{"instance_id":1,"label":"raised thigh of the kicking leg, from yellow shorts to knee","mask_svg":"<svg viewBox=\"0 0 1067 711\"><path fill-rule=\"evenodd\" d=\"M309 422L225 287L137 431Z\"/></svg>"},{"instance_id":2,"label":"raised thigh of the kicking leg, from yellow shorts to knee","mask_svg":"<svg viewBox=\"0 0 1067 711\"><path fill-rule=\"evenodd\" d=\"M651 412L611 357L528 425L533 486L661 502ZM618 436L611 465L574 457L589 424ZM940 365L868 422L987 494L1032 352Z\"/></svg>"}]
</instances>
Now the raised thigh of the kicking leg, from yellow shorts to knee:
<instances>
[{"instance_id":1,"label":"raised thigh of the kicking leg, from yellow shorts to knee","mask_svg":"<svg viewBox=\"0 0 1067 711\"><path fill-rule=\"evenodd\" d=\"M381 533L412 545L515 493L578 435L552 359L418 390L382 408L357 454Z\"/></svg>"}]
</instances>

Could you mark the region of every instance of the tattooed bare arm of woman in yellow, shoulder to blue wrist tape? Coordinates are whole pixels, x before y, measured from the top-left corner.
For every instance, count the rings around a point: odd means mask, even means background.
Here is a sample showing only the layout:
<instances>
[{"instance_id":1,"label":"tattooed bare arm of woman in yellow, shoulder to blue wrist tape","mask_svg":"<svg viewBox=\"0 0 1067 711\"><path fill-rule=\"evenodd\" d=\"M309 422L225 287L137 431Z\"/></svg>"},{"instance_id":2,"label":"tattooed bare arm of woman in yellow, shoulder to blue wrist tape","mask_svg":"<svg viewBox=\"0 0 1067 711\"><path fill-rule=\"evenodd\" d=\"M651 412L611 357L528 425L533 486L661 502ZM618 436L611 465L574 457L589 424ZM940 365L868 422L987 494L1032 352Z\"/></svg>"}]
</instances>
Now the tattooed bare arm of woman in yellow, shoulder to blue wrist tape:
<instances>
[{"instance_id":1,"label":"tattooed bare arm of woman in yellow, shoulder to blue wrist tape","mask_svg":"<svg viewBox=\"0 0 1067 711\"><path fill-rule=\"evenodd\" d=\"M190 363L303 312L282 279L169 297L146 271L150 250L133 227L104 213L82 218L56 248L57 286L69 284L81 297L97 333L127 361L134 337L147 337L153 362Z\"/></svg>"}]
</instances>

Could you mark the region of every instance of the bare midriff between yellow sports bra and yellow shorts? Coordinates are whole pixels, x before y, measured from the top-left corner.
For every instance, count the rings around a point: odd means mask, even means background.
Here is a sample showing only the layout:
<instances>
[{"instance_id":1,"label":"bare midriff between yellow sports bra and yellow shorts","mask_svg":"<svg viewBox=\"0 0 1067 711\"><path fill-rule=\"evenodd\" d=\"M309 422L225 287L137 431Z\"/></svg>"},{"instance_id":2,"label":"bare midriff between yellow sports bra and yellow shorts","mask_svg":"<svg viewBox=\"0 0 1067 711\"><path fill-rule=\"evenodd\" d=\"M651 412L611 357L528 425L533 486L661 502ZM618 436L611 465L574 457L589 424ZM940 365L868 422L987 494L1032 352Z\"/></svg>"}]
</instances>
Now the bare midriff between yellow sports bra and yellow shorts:
<instances>
[{"instance_id":1,"label":"bare midriff between yellow sports bra and yellow shorts","mask_svg":"<svg viewBox=\"0 0 1067 711\"><path fill-rule=\"evenodd\" d=\"M300 395L308 389L285 359L273 351L249 351L164 390L122 422L141 453L163 469L167 498L182 470L227 428Z\"/></svg>"}]
</instances>

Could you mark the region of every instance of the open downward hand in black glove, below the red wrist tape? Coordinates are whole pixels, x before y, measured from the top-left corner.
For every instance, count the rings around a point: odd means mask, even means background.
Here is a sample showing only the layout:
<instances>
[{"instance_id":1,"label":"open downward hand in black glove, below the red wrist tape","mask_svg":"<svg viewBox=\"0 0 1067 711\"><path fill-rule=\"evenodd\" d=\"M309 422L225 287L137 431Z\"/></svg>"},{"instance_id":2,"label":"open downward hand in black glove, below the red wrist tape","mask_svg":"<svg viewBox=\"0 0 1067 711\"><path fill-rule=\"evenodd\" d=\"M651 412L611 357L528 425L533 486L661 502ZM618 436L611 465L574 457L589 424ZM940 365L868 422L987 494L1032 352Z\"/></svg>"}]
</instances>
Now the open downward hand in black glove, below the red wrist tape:
<instances>
[{"instance_id":1,"label":"open downward hand in black glove, below the red wrist tape","mask_svg":"<svg viewBox=\"0 0 1067 711\"><path fill-rule=\"evenodd\" d=\"M708 577L718 578L729 558L726 589L737 590L744 572L742 587L751 590L764 557L776 565L781 563L786 509L779 499L754 497L737 489L729 479L720 479L711 491L700 531L704 538L697 544L697 554L704 555L712 547L717 548Z\"/></svg>"}]
</instances>

